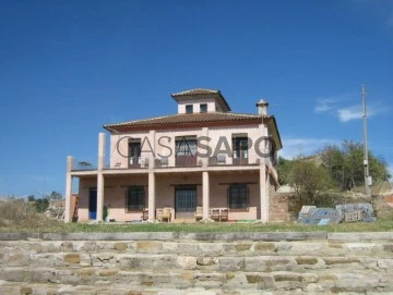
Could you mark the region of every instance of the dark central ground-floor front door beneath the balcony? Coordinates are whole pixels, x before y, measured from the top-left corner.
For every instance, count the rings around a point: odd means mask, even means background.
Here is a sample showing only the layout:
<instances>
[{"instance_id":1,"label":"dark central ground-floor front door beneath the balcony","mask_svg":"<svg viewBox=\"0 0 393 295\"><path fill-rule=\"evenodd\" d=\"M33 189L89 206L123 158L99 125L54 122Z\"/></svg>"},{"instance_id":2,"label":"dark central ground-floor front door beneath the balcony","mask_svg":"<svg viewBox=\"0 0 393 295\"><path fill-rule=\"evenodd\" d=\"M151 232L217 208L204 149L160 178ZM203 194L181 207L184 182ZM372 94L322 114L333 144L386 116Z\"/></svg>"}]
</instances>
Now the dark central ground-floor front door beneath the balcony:
<instances>
[{"instance_id":1,"label":"dark central ground-floor front door beneath the balcony","mask_svg":"<svg viewBox=\"0 0 393 295\"><path fill-rule=\"evenodd\" d=\"M184 186L175 189L176 219L193 219L196 210L196 187Z\"/></svg>"}]
</instances>

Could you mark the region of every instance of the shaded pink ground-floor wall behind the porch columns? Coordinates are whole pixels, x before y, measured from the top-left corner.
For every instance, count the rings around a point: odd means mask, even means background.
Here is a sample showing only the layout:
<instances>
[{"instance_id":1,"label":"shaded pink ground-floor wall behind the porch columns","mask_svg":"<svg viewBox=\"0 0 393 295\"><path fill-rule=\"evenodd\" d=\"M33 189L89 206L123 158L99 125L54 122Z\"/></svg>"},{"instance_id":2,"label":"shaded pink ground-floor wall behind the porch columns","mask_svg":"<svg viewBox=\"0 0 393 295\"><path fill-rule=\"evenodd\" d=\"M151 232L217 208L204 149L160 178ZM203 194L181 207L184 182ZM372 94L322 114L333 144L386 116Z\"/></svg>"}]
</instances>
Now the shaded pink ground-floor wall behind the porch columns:
<instances>
[{"instance_id":1,"label":"shaded pink ground-floor wall behind the porch columns","mask_svg":"<svg viewBox=\"0 0 393 295\"><path fill-rule=\"evenodd\" d=\"M234 179L234 176L236 177ZM147 173L129 175L106 175L104 185L104 205L110 206L109 217L116 221L141 220L142 211L128 212L126 192L130 185L145 187L145 208L148 204ZM175 209L176 185L196 185L196 205L202 206L202 173L156 173L156 208ZM253 172L210 172L210 207L227 208L227 189L230 183L248 183L250 207L247 210L229 210L229 220L260 219L259 171ZM88 192L96 187L96 177L80 180L79 221L88 221ZM176 214L176 212L175 212ZM175 216L174 216L175 218Z\"/></svg>"}]
</instances>

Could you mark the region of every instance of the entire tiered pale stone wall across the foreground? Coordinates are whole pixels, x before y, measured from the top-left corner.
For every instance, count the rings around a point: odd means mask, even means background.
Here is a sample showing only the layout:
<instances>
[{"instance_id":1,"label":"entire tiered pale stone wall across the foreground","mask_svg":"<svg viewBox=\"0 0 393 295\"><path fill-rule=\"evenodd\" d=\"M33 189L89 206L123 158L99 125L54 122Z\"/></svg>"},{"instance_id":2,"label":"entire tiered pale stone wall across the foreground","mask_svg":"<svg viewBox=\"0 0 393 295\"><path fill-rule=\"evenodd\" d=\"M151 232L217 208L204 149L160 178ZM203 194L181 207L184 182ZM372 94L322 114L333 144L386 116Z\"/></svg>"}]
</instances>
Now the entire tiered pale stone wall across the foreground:
<instances>
[{"instance_id":1,"label":"entire tiered pale stone wall across the foreground","mask_svg":"<svg viewBox=\"0 0 393 295\"><path fill-rule=\"evenodd\" d=\"M393 233L0 234L0 294L393 293Z\"/></svg>"}]
</instances>

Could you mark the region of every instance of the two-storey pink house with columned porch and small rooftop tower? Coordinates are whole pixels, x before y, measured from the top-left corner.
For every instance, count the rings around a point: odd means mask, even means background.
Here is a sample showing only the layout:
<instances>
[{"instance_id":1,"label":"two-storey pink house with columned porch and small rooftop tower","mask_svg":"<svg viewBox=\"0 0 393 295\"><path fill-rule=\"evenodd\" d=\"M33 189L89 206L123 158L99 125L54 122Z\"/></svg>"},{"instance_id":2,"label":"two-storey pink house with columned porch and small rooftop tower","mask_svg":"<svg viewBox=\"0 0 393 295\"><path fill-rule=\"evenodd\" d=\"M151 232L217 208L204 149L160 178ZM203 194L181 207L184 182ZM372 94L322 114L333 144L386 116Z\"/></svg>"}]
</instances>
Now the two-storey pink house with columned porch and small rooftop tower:
<instances>
[{"instance_id":1,"label":"two-storey pink house with columned porch and small rooftop tower","mask_svg":"<svg viewBox=\"0 0 393 295\"><path fill-rule=\"evenodd\" d=\"M66 222L72 219L72 180L79 179L79 221L108 212L116 221L143 217L202 219L211 210L228 220L270 220L270 195L277 188L276 120L260 100L253 114L234 113L222 93L191 89L171 95L172 115L104 125L110 134L109 165L105 133L98 136L98 164L67 159ZM109 209L109 210L108 210Z\"/></svg>"}]
</instances>

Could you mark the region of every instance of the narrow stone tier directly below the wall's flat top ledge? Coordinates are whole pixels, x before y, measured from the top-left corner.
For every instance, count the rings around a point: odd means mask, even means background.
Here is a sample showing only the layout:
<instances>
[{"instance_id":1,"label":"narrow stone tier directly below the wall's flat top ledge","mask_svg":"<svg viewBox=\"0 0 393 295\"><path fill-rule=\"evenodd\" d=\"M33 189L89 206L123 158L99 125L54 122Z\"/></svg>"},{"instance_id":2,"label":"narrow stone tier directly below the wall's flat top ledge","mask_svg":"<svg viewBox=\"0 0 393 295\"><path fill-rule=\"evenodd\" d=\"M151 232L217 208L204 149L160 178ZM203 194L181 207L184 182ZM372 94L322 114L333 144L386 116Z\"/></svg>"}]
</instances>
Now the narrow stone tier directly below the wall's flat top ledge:
<instances>
[{"instance_id":1,"label":"narrow stone tier directly below the wall's flat top ledge","mask_svg":"<svg viewBox=\"0 0 393 295\"><path fill-rule=\"evenodd\" d=\"M343 237L345 238L345 236ZM114 253L184 256L365 256L393 258L392 241L376 242L160 242L160 241L0 241L3 254Z\"/></svg>"}]
</instances>

